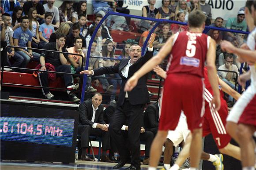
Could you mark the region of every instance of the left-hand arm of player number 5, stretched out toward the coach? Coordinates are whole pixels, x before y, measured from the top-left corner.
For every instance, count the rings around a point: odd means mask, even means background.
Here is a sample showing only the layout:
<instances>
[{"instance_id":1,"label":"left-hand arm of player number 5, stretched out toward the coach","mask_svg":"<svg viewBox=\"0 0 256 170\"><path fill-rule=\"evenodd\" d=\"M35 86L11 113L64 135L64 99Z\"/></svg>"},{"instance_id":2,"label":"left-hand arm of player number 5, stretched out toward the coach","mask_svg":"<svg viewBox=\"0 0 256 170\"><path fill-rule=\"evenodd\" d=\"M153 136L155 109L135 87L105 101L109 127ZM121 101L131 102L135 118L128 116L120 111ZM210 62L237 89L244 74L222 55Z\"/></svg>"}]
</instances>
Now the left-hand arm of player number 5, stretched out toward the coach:
<instances>
[{"instance_id":1,"label":"left-hand arm of player number 5, stretched out toward the coach","mask_svg":"<svg viewBox=\"0 0 256 170\"><path fill-rule=\"evenodd\" d=\"M127 81L124 91L131 91L142 76L150 72L155 66L160 64L164 58L172 51L173 40L176 34L171 36L157 55L147 61L134 75Z\"/></svg>"}]
</instances>

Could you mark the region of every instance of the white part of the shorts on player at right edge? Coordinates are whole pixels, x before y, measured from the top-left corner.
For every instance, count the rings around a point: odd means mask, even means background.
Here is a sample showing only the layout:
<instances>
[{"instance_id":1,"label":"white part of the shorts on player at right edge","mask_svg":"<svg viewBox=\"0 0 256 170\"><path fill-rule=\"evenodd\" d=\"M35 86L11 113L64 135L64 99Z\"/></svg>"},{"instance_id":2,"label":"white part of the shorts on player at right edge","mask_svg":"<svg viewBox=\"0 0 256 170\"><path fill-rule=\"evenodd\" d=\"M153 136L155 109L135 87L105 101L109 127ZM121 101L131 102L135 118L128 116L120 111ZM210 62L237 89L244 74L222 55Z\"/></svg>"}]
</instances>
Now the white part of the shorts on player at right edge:
<instances>
[{"instance_id":1,"label":"white part of the shorts on player at right edge","mask_svg":"<svg viewBox=\"0 0 256 170\"><path fill-rule=\"evenodd\" d=\"M254 95L255 92L252 90L252 87L249 86L231 109L226 121L238 123L241 114L244 112L246 106L252 100Z\"/></svg>"}]
</instances>

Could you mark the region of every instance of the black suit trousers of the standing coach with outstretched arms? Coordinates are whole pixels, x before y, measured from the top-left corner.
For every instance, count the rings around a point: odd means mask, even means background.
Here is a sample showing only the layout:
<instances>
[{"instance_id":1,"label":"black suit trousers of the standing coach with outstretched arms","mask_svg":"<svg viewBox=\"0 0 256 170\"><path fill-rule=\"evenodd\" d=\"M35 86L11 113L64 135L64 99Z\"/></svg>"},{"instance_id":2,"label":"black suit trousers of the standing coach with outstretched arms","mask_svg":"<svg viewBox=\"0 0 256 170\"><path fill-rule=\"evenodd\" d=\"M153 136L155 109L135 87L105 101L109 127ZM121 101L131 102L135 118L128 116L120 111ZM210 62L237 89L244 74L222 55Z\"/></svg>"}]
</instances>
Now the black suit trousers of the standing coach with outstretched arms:
<instances>
[{"instance_id":1,"label":"black suit trousers of the standing coach with outstretched arms","mask_svg":"<svg viewBox=\"0 0 256 170\"><path fill-rule=\"evenodd\" d=\"M117 109L112 116L109 124L109 133L117 145L120 159L127 161L130 153L132 156L131 166L140 167L140 128L143 121L144 105L131 105L129 101L124 101L122 106ZM121 133L121 127L128 119L128 141L130 150L125 145L124 137Z\"/></svg>"}]
</instances>

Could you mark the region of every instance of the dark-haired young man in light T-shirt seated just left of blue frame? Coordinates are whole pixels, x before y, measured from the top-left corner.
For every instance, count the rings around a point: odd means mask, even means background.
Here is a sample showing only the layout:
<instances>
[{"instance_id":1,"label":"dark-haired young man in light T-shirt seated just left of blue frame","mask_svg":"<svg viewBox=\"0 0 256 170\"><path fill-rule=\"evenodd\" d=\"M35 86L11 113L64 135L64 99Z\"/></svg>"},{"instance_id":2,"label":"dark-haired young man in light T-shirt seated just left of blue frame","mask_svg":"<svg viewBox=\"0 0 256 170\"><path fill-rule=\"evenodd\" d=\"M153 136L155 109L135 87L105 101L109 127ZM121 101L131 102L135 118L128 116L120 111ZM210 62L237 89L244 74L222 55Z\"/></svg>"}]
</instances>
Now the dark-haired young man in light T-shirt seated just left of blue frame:
<instances>
[{"instance_id":1,"label":"dark-haired young man in light T-shirt seated just left of blue frame","mask_svg":"<svg viewBox=\"0 0 256 170\"><path fill-rule=\"evenodd\" d=\"M67 51L69 53L72 54L68 54L68 64L71 65L71 70L72 73L79 73L82 71L82 63L83 63L83 58L84 58L84 54L82 52L82 44L83 44L83 40L82 38L80 38L79 36L75 37L74 39L74 47L70 47L67 49ZM80 55L74 55L74 54L80 54L83 55L83 58Z\"/></svg>"}]
</instances>

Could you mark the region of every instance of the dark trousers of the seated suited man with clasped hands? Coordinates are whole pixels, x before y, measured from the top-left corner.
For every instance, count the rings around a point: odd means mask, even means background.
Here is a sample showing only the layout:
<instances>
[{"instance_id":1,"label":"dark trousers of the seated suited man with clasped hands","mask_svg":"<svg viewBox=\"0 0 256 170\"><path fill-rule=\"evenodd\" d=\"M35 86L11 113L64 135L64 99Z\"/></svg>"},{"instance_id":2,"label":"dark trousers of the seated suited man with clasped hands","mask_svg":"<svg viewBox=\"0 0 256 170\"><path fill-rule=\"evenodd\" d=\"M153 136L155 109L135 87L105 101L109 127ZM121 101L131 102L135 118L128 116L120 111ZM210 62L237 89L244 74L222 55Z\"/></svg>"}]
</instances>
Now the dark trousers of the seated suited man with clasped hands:
<instances>
[{"instance_id":1,"label":"dark trousers of the seated suited man with clasped hands","mask_svg":"<svg viewBox=\"0 0 256 170\"><path fill-rule=\"evenodd\" d=\"M110 149L109 132L103 131L99 128L94 129L90 125L78 125L78 134L81 134L81 148L89 147L89 136L102 137L102 150L106 151Z\"/></svg>"}]
</instances>

